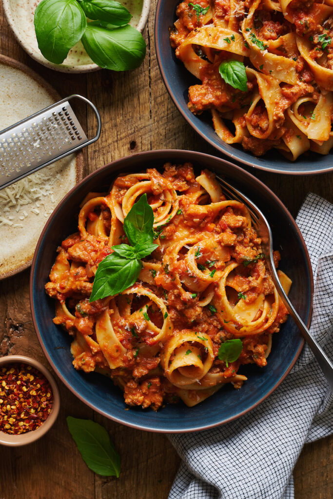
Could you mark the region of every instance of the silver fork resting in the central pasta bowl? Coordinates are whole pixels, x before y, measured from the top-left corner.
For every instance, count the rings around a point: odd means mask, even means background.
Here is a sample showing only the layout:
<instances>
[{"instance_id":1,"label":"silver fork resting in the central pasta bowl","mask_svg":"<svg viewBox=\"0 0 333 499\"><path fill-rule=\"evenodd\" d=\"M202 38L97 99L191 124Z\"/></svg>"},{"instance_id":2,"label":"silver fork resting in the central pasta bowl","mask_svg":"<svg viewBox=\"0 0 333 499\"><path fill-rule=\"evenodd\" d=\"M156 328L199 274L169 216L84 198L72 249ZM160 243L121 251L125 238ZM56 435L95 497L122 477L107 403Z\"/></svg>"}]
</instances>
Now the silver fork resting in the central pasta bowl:
<instances>
[{"instance_id":1,"label":"silver fork resting in the central pasta bowl","mask_svg":"<svg viewBox=\"0 0 333 499\"><path fill-rule=\"evenodd\" d=\"M295 310L294 306L292 305L290 299L288 298L284 288L280 283L280 279L278 277L273 259L273 238L269 223L267 222L265 216L259 210L259 208L252 201L250 201L249 198L245 196L245 194L235 189L235 187L228 184L228 182L226 182L221 177L216 176L216 178L222 184L222 188L225 194L230 196L231 199L235 199L237 201L240 201L241 203L244 203L244 205L248 209L253 222L253 227L256 230L258 236L261 238L262 250L265 256L265 260L271 272L273 282L278 290L280 298L286 305L287 310L289 311L290 315L293 317L304 339L306 340L311 350L313 351L333 392L333 363L328 358L322 347L317 343L317 341L310 333L307 326L304 324L303 320Z\"/></svg>"}]
</instances>

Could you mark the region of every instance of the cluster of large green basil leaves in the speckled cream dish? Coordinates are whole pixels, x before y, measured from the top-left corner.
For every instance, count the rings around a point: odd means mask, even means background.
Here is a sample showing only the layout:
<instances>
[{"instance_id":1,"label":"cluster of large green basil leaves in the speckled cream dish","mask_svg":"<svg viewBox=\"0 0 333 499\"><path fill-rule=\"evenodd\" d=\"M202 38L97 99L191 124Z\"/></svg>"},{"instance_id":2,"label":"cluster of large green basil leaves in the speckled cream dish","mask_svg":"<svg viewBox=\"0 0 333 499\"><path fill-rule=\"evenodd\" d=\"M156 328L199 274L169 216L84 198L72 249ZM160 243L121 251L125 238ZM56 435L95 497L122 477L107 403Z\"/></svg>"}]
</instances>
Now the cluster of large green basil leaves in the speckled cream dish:
<instances>
[{"instance_id":1,"label":"cluster of large green basil leaves in the speckled cream dish","mask_svg":"<svg viewBox=\"0 0 333 499\"><path fill-rule=\"evenodd\" d=\"M94 19L87 22L88 19ZM42 0L34 13L42 55L61 64L79 40L89 57L102 68L135 69L146 55L146 44L127 24L132 15L114 0Z\"/></svg>"}]
</instances>

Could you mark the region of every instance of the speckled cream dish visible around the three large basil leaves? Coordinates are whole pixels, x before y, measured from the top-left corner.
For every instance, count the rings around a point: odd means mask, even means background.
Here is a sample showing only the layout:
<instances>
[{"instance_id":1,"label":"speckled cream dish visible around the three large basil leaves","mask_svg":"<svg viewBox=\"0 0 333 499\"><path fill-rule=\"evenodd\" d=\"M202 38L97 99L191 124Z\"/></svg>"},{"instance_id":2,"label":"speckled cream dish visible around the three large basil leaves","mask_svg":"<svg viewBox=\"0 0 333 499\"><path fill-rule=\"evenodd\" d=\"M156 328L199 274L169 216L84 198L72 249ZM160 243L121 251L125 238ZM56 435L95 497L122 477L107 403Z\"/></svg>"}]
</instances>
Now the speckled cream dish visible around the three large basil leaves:
<instances>
[{"instance_id":1,"label":"speckled cream dish visible around the three large basil leaves","mask_svg":"<svg viewBox=\"0 0 333 499\"><path fill-rule=\"evenodd\" d=\"M72 47L62 64L53 64L42 56L33 25L34 11L41 0L2 0L3 10L12 32L21 47L37 62L63 73L89 73L101 69L92 62L81 41ZM132 14L131 26L143 31L149 15L150 0L121 2Z\"/></svg>"}]
</instances>

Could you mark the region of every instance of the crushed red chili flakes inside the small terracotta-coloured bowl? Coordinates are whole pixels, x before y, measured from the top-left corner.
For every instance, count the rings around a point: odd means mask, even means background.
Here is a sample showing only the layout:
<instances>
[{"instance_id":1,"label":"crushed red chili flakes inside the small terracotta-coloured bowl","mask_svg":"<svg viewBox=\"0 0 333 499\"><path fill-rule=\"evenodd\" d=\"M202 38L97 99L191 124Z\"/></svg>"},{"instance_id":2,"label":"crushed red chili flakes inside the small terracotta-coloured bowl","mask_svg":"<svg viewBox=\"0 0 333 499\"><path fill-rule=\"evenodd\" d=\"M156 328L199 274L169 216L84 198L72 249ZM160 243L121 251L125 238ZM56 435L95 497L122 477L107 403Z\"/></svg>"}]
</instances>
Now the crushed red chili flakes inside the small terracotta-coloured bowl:
<instances>
[{"instance_id":1,"label":"crushed red chili flakes inside the small terracotta-coloured bowl","mask_svg":"<svg viewBox=\"0 0 333 499\"><path fill-rule=\"evenodd\" d=\"M19 435L36 430L52 403L51 386L40 371L23 363L0 367L0 431Z\"/></svg>"}]
</instances>

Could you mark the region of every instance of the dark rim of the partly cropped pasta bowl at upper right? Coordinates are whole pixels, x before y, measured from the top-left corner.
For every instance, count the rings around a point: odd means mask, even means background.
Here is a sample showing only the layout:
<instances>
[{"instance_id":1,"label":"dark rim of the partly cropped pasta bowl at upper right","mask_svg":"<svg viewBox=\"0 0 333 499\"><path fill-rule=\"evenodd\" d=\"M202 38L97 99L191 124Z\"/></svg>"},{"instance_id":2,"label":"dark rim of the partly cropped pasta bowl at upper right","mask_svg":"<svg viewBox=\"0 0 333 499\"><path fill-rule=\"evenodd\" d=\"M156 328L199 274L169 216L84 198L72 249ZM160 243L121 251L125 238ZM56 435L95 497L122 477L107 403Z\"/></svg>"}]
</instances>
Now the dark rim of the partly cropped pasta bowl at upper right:
<instances>
[{"instance_id":1,"label":"dark rim of the partly cropped pasta bowl at upper right","mask_svg":"<svg viewBox=\"0 0 333 499\"><path fill-rule=\"evenodd\" d=\"M159 50L159 44L158 44L158 24L159 24L159 15L160 15L162 1L165 1L165 0L157 0L156 14L155 14L154 36L155 36L155 50L156 50L157 63L158 63L158 67L159 67L164 85L165 85L173 103L175 104L175 106L177 107L178 111L183 116L183 118L193 128L193 130L196 133L198 133L206 142L208 142L212 147L214 147L214 149L216 149L220 153L228 156L229 158L231 158L233 160L237 160L240 163L243 163L244 165L251 166L252 168L257 168L258 170L264 170L266 172L271 172L271 173L279 173L280 175L320 175L322 173L332 172L333 171L333 164L332 164L332 166L329 166L327 168L323 168L321 170L306 170L303 172L300 172L298 170L293 170L293 166L292 166L293 162L292 161L290 161L288 163L288 165L290 164L290 166L291 166L291 168L288 170L279 170L279 169L275 169L273 167L261 166L261 165L255 164L251 161L246 161L244 159L238 158L236 154L233 154L233 153L230 153L229 151L226 151L225 149L223 149L222 146L219 146L213 140L211 140L209 137L207 137L203 132L201 132L201 130L198 128L198 126L195 123L193 123L191 121L191 119L187 116L187 114L183 110L183 106L175 98L175 96L173 94L172 87L169 85L167 78L166 78L166 75L165 75L165 71L164 71L164 67L163 67L162 59L161 59L161 54L160 54L160 50ZM179 3L180 2L181 2L181 0L179 0ZM166 29L167 29L167 27L166 27ZM213 123L212 123L212 127L213 127ZM222 142L222 140L221 140L221 142ZM235 150L235 151L237 153L237 150ZM250 153L249 153L249 157L251 158ZM221 158L221 159L223 159L223 158ZM254 161L256 160L256 156L253 156L253 160ZM288 160L286 160L286 161L288 161Z\"/></svg>"}]
</instances>

